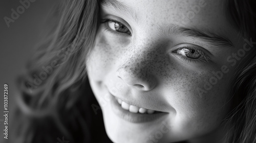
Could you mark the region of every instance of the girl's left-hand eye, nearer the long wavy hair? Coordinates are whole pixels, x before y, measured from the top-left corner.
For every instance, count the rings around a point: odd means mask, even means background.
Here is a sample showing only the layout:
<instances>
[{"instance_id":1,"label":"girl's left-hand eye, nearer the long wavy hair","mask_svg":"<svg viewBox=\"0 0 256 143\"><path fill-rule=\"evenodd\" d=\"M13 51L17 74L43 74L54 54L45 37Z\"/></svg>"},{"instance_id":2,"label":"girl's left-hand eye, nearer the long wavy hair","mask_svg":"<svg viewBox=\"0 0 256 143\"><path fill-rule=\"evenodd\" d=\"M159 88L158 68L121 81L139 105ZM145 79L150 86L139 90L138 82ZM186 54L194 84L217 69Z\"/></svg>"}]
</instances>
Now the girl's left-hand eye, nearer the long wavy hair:
<instances>
[{"instance_id":1,"label":"girl's left-hand eye, nearer the long wavy hair","mask_svg":"<svg viewBox=\"0 0 256 143\"><path fill-rule=\"evenodd\" d=\"M102 23L106 23L107 28L119 32L119 33L126 33L129 35L132 35L130 30L121 22L112 20L112 19L105 19L102 21Z\"/></svg>"}]
</instances>

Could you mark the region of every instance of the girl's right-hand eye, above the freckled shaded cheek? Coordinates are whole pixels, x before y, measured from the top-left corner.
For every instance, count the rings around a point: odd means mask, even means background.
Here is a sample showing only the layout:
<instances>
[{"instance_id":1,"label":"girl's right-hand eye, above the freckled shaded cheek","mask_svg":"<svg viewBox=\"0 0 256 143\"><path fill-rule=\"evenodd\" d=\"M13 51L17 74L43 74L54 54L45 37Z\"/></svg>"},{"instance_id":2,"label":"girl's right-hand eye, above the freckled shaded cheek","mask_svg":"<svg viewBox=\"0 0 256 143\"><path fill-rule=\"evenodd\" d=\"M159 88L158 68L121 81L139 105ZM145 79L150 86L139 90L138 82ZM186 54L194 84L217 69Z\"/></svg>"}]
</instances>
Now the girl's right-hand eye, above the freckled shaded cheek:
<instances>
[{"instance_id":1,"label":"girl's right-hand eye, above the freckled shaded cheek","mask_svg":"<svg viewBox=\"0 0 256 143\"><path fill-rule=\"evenodd\" d=\"M209 61L209 57L202 50L196 49L195 47L182 46L175 53L186 61Z\"/></svg>"}]
</instances>

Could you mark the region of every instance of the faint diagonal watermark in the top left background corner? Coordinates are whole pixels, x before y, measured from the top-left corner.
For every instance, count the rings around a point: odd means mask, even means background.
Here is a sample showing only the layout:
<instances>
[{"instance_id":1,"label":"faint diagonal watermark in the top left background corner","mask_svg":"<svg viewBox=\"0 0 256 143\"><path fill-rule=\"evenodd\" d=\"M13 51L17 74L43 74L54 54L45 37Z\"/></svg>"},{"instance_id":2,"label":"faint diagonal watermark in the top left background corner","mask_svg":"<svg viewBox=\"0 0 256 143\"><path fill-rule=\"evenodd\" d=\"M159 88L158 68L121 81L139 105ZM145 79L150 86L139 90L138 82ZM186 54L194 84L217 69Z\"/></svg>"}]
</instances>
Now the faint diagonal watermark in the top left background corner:
<instances>
[{"instance_id":1,"label":"faint diagonal watermark in the top left background corner","mask_svg":"<svg viewBox=\"0 0 256 143\"><path fill-rule=\"evenodd\" d=\"M31 3L34 3L36 0L20 0L19 3L21 4L16 8L16 10L11 9L11 17L4 17L5 23L7 27L10 27L11 22L15 22L20 16L20 14L23 14L25 12L25 9L28 9L31 5Z\"/></svg>"}]
</instances>

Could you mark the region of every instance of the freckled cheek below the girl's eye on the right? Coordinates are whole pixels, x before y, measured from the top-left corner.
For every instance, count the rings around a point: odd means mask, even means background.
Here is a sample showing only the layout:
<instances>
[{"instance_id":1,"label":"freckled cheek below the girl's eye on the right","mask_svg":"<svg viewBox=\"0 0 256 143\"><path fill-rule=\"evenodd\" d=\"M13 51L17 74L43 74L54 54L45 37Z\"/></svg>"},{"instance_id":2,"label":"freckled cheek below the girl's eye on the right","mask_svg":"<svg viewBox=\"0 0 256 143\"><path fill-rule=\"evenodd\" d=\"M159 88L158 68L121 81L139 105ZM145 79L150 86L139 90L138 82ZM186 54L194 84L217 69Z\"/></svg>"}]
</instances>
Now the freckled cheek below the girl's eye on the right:
<instances>
[{"instance_id":1,"label":"freckled cheek below the girl's eye on the right","mask_svg":"<svg viewBox=\"0 0 256 143\"><path fill-rule=\"evenodd\" d=\"M183 66L172 69L173 74L165 77L168 84L164 85L164 92L166 101L176 109L177 122L184 128L193 125L194 129L200 130L218 127L230 110L231 76L223 74L218 79L212 74L218 68L210 66L197 70Z\"/></svg>"}]
</instances>

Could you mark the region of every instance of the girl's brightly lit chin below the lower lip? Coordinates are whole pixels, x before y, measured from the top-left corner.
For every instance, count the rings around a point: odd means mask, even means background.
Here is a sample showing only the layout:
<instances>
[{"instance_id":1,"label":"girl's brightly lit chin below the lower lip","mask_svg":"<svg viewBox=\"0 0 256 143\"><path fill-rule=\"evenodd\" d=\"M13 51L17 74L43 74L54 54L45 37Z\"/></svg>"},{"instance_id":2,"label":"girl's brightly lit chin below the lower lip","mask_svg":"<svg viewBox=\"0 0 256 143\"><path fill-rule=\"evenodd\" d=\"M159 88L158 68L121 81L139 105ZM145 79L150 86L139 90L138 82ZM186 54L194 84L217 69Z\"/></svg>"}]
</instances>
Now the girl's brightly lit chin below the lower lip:
<instances>
[{"instance_id":1,"label":"girl's brightly lit chin below the lower lip","mask_svg":"<svg viewBox=\"0 0 256 143\"><path fill-rule=\"evenodd\" d=\"M104 106L102 113L106 133L116 143L151 142L150 137L161 130L159 127L161 127L164 119L161 118L158 121L145 123L126 121L113 111L111 104ZM159 142L163 139L164 137L161 137L157 140Z\"/></svg>"}]
</instances>

